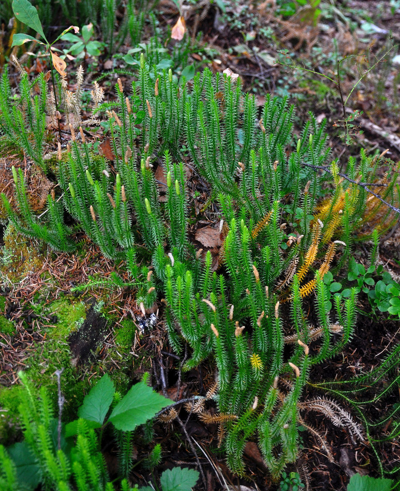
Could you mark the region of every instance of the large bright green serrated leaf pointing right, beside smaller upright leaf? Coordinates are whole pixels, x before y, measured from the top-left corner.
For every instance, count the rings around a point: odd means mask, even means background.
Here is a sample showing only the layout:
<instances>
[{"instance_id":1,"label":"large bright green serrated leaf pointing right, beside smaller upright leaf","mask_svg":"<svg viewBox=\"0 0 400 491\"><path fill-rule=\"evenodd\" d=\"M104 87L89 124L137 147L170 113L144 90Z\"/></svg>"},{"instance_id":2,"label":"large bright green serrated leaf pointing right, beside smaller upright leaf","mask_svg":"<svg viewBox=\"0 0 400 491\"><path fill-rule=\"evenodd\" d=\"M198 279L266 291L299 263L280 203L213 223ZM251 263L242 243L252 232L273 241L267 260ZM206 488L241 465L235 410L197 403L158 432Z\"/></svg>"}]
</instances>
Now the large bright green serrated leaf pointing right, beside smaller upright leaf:
<instances>
[{"instance_id":1,"label":"large bright green serrated leaf pointing right, beside smaller upright leaf","mask_svg":"<svg viewBox=\"0 0 400 491\"><path fill-rule=\"evenodd\" d=\"M114 408L109 421L117 430L133 431L137 426L153 418L157 412L171 405L171 400L157 394L143 382L130 388Z\"/></svg>"}]
</instances>

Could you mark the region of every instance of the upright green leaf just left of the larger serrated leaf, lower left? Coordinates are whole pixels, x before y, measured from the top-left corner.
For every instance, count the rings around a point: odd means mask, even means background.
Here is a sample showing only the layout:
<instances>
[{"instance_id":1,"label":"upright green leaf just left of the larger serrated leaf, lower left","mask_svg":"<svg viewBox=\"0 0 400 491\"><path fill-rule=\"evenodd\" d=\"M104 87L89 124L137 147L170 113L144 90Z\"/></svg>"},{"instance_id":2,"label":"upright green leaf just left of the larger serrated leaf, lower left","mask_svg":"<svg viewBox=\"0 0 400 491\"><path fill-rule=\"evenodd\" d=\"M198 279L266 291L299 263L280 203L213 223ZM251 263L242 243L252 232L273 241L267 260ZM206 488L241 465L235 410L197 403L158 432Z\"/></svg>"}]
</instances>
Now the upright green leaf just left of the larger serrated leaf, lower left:
<instances>
[{"instance_id":1,"label":"upright green leaf just left of the larger serrated leaf, lower left","mask_svg":"<svg viewBox=\"0 0 400 491\"><path fill-rule=\"evenodd\" d=\"M108 375L103 375L85 397L84 403L78 409L78 416L102 425L113 402L114 392L114 383Z\"/></svg>"}]
</instances>

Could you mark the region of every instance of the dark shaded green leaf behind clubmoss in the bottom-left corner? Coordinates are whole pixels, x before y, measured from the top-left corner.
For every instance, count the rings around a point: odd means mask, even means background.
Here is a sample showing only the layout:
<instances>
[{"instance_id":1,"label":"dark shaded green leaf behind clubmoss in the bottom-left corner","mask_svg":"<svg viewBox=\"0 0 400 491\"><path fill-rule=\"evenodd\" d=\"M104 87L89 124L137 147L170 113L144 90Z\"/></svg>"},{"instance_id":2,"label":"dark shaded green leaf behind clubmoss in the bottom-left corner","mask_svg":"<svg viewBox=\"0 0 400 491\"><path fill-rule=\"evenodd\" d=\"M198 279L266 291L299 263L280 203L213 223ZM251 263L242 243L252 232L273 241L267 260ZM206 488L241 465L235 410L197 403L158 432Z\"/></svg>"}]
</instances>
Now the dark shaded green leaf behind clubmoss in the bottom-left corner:
<instances>
[{"instance_id":1,"label":"dark shaded green leaf behind clubmoss in the bottom-left corner","mask_svg":"<svg viewBox=\"0 0 400 491\"><path fill-rule=\"evenodd\" d=\"M39 463L30 450L28 443L26 441L15 443L8 447L7 451L15 464L21 489L30 491L37 488L42 474Z\"/></svg>"}]
</instances>

